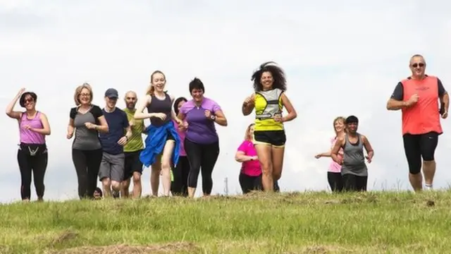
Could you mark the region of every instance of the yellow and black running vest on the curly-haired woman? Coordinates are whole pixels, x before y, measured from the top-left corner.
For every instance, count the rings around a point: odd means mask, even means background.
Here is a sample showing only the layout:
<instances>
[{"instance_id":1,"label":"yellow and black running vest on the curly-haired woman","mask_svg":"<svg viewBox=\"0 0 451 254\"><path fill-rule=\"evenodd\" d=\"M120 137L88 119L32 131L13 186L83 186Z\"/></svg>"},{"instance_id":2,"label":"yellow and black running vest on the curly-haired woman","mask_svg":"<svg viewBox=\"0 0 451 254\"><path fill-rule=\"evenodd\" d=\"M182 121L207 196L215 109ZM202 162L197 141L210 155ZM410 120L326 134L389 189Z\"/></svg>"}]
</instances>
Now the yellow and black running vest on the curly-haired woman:
<instances>
[{"instance_id":1,"label":"yellow and black running vest on the curly-haired woman","mask_svg":"<svg viewBox=\"0 0 451 254\"><path fill-rule=\"evenodd\" d=\"M283 131L283 123L273 119L282 114L282 93L278 88L255 92L255 131Z\"/></svg>"}]
</instances>

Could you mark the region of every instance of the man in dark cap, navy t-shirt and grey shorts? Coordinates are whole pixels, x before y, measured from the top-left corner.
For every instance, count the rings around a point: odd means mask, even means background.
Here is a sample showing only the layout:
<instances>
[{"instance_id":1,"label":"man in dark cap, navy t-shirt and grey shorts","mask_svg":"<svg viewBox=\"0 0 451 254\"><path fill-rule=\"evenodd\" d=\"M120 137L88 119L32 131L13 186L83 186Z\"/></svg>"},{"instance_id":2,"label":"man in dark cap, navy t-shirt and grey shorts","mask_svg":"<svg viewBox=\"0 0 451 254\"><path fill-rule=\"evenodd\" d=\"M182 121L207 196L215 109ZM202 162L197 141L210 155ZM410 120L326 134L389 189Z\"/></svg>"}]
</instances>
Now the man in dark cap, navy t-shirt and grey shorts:
<instances>
[{"instance_id":1,"label":"man in dark cap, navy t-shirt and grey shorts","mask_svg":"<svg viewBox=\"0 0 451 254\"><path fill-rule=\"evenodd\" d=\"M100 133L103 156L99 169L99 180L104 187L104 196L119 198L121 183L124 178L124 145L132 136L127 114L116 107L118 91L109 88L105 92L105 107L102 109L106 123L109 126L108 133ZM125 133L126 131L126 133ZM125 134L125 135L124 135ZM111 188L113 191L111 192Z\"/></svg>"}]
</instances>

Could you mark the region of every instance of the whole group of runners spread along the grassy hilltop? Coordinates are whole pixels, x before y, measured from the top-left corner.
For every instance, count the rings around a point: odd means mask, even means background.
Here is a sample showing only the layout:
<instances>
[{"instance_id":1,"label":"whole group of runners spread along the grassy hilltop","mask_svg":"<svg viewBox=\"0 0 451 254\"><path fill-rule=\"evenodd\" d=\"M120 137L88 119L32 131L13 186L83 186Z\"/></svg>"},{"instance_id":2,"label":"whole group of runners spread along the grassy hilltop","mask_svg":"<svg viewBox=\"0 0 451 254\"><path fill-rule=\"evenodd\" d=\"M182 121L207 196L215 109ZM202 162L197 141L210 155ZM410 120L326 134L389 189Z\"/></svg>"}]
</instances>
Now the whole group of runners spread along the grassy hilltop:
<instances>
[{"instance_id":1,"label":"whole group of runners spread along the grassy hilltop","mask_svg":"<svg viewBox=\"0 0 451 254\"><path fill-rule=\"evenodd\" d=\"M440 79L425 74L426 61L414 55L409 61L412 75L397 84L388 100L388 110L402 110L402 137L409 165L409 181L414 191L421 191L421 158L426 188L433 188L435 147L442 134L440 116L447 118L449 97ZM242 114L255 111L245 140L238 147L235 160L242 163L238 177L243 193L279 191L285 153L284 123L297 117L285 94L285 73L276 63L267 62L252 75L254 92L242 104ZM119 95L106 90L105 106L92 104L92 87L85 83L75 90L76 107L70 109L67 138L73 138L72 159L78 177L78 195L98 198L142 195L143 167L151 168L152 195L158 195L160 176L163 195L194 197L197 179L202 174L202 193L211 194L214 170L219 155L215 123L228 126L218 103L204 97L199 78L189 84L192 99L175 99L165 90L166 76L154 71L146 95L137 104L137 94L125 94L125 109L118 109ZM440 99L441 106L438 106ZM19 101L25 111L13 111ZM45 136L51 134L46 114L36 109L37 95L21 89L8 104L6 114L19 123L18 165L20 193L30 200L32 175L38 200L44 197L44 176L48 152ZM283 109L288 114L283 115ZM147 109L147 113L144 113ZM144 126L144 119L151 124ZM328 183L333 192L366 191L368 168L373 148L368 138L357 131L356 116L334 119L335 135L328 152L316 158L331 157ZM147 137L142 140L142 134ZM364 155L364 149L366 155ZM99 180L97 180L99 179ZM97 188L101 181L103 191Z\"/></svg>"}]
</instances>

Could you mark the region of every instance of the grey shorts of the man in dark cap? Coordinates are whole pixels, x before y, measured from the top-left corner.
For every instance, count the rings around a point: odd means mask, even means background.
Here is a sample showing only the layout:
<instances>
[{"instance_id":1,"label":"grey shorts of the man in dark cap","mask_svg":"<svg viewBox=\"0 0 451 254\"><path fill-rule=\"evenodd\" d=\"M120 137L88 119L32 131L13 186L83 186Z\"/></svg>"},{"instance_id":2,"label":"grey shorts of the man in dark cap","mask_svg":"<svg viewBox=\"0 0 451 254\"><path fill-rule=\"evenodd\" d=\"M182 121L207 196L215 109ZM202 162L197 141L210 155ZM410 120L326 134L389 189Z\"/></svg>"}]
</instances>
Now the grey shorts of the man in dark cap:
<instances>
[{"instance_id":1,"label":"grey shorts of the man in dark cap","mask_svg":"<svg viewBox=\"0 0 451 254\"><path fill-rule=\"evenodd\" d=\"M104 155L101 157L99 180L102 181L104 178L109 178L111 181L123 181L124 164L125 155L123 153L110 155L104 152Z\"/></svg>"}]
</instances>

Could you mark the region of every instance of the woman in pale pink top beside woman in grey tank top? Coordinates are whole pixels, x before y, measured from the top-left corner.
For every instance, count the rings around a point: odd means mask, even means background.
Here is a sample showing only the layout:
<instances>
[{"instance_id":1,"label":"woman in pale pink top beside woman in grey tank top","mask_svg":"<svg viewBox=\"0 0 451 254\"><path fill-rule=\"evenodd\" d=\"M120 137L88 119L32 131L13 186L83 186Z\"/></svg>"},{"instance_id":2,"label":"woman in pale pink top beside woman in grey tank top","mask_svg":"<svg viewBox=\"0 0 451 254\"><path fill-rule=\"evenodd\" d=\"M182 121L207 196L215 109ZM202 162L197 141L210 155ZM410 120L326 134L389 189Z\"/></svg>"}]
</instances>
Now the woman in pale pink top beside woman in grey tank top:
<instances>
[{"instance_id":1,"label":"woman in pale pink top beside woman in grey tank top","mask_svg":"<svg viewBox=\"0 0 451 254\"><path fill-rule=\"evenodd\" d=\"M342 116L338 116L333 120L333 128L335 130L335 136L333 138L330 138L330 150L328 152L323 152L318 155L315 155L316 159L319 159L321 157L330 157L330 151L333 148L333 145L335 145L335 142L338 140L338 138L342 137L346 133L345 129L345 121L346 119ZM338 153L339 157L343 156L343 150L340 149L340 152ZM341 166L340 164L334 162L333 160L330 161L329 169L327 172L327 180L330 186L330 189L333 192L340 192L343 190L343 179L341 176Z\"/></svg>"}]
</instances>

